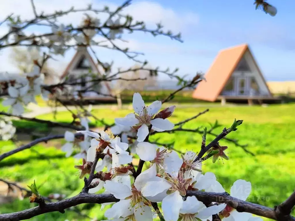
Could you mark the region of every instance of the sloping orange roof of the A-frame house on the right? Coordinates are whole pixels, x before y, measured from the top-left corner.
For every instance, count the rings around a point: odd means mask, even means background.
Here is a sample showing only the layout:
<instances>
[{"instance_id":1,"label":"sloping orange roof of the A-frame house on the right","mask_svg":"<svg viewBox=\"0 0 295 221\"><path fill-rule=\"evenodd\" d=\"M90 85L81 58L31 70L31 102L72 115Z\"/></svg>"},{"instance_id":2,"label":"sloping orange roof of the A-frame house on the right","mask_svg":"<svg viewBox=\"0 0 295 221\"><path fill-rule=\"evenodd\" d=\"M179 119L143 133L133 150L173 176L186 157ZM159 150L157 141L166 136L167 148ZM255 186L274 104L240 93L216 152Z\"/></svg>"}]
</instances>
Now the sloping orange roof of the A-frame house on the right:
<instances>
[{"instance_id":1,"label":"sloping orange roof of the A-frame house on the right","mask_svg":"<svg viewBox=\"0 0 295 221\"><path fill-rule=\"evenodd\" d=\"M248 45L243 44L219 51L205 75L207 82L201 81L198 84L193 98L214 102L247 50L249 50ZM262 76L261 73L260 75ZM262 79L264 80L263 76Z\"/></svg>"}]
</instances>

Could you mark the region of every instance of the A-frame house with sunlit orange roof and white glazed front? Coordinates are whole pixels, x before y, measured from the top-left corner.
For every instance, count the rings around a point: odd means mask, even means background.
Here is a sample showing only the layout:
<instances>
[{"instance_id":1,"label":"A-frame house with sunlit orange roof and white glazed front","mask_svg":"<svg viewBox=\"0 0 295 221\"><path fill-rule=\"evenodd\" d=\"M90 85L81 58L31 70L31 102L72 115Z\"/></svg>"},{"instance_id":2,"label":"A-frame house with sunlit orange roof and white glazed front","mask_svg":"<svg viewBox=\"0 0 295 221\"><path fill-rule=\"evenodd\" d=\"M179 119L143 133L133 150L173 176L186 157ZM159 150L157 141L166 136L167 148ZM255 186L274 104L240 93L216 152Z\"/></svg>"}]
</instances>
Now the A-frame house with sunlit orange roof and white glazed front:
<instances>
[{"instance_id":1,"label":"A-frame house with sunlit orange roof and white glazed front","mask_svg":"<svg viewBox=\"0 0 295 221\"><path fill-rule=\"evenodd\" d=\"M193 98L221 100L276 100L247 44L219 51L211 67L193 92Z\"/></svg>"}]
</instances>

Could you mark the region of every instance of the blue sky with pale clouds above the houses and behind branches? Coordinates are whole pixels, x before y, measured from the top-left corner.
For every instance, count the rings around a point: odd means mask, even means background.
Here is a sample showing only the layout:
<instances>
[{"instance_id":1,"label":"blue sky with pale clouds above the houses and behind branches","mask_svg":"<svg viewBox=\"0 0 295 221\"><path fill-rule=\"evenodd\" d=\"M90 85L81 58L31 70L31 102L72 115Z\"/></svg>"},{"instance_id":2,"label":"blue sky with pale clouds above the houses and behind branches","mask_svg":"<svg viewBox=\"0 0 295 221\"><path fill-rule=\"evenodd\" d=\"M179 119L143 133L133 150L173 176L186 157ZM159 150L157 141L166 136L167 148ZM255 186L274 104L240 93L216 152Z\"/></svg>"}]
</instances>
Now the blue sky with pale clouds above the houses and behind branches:
<instances>
[{"instance_id":1,"label":"blue sky with pale clouds above the houses and behind branches","mask_svg":"<svg viewBox=\"0 0 295 221\"><path fill-rule=\"evenodd\" d=\"M11 1L19 0L5 1L6 6L11 7ZM40 7L43 7L42 1L44 0L39 0ZM101 2L89 1L94 4ZM38 0L36 6L37 2ZM55 6L57 9L63 7L63 0L58 2ZM111 5L122 2L104 1ZM295 80L295 1L268 0L268 3L276 6L278 10L275 17L255 10L253 2L133 0L127 12L135 18L146 20L148 27L154 27L152 24L162 21L163 25L173 32L181 31L184 43L144 33L126 34L123 37L130 41L128 46L131 49L145 53L145 56L141 57L142 60L147 59L151 66L160 66L163 69L178 67L180 75L194 75L196 71L206 72L219 50L248 43L266 80ZM81 2L73 0L73 4L81 5ZM65 3L64 5L68 6ZM5 5L3 10L9 11L5 9ZM39 28L36 31L42 30ZM116 67L134 64L119 52L97 48L96 53L104 62L114 60ZM73 54L74 50L68 51L64 58L58 57L59 63L54 65L63 70ZM0 58L4 56L5 53L0 53ZM0 71L3 71L2 69L0 68Z\"/></svg>"}]
</instances>

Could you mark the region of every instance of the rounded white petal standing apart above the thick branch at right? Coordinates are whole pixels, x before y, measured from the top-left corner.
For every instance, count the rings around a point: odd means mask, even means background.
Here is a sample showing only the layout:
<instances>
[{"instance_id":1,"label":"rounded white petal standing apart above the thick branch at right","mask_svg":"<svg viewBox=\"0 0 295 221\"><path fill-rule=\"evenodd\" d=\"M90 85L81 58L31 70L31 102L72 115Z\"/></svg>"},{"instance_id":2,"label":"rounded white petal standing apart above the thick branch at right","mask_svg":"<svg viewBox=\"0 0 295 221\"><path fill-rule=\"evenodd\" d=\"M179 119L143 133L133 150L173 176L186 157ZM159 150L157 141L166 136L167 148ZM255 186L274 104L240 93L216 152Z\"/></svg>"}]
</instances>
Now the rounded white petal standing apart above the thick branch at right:
<instances>
[{"instance_id":1,"label":"rounded white petal standing apart above the thick branch at right","mask_svg":"<svg viewBox=\"0 0 295 221\"><path fill-rule=\"evenodd\" d=\"M237 180L230 188L230 195L240 200L246 200L251 192L251 183L245 180Z\"/></svg>"}]
</instances>

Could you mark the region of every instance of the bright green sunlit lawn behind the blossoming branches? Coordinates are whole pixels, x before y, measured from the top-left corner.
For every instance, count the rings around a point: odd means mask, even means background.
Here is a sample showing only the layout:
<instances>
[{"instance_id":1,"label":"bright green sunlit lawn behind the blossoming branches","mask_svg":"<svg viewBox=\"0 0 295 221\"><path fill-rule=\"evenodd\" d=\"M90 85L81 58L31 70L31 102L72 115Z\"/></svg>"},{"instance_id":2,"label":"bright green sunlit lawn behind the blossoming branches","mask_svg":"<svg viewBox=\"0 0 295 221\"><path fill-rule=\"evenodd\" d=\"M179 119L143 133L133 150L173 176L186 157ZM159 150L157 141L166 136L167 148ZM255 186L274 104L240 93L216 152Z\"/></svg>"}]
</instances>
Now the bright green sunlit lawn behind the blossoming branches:
<instances>
[{"instance_id":1,"label":"bright green sunlit lawn behind the blossoming branches","mask_svg":"<svg viewBox=\"0 0 295 221\"><path fill-rule=\"evenodd\" d=\"M252 193L249 201L269 207L279 204L286 199L294 189L295 183L295 130L294 130L295 104L242 107L212 107L210 111L197 119L187 123L183 128L196 128L199 126L210 127L208 122L218 122L222 125L214 130L221 132L223 127L229 127L233 119L244 120L237 131L228 135L229 138L238 139L241 144L248 144L248 150L255 153L255 157L246 154L240 147L227 141L221 141L221 145L228 145L227 153L229 161L213 164L205 161L204 172L212 171L219 182L229 191L232 183L237 179L245 179L252 183ZM204 108L175 109L170 118L173 122L179 122L194 116ZM123 117L130 110L109 111L97 109L93 113L96 117L104 118L112 123L114 117ZM52 119L52 114L39 116L42 119ZM59 113L58 121L71 122L71 114ZM99 126L99 124L98 124ZM151 136L151 140L159 138L158 142L171 143L175 141L175 148L181 151L198 151L201 144L201 135L190 132L177 132L175 134L157 134ZM207 137L207 142L214 139ZM9 142L2 143L0 152L14 148ZM36 152L37 151L37 152ZM0 177L11 181L31 184L36 179L37 184L43 184L41 194L64 193L68 197L77 194L83 181L78 179L77 171L73 168L74 159L65 159L64 154L54 147L44 148L35 146L31 150L24 150L0 162ZM16 200L11 204L0 205L2 213L15 212L32 207L28 199ZM99 205L80 205L90 217L100 220L103 212ZM90 210L87 210L90 209ZM66 211L41 215L31 220L88 220L78 216L75 212Z\"/></svg>"}]
</instances>

